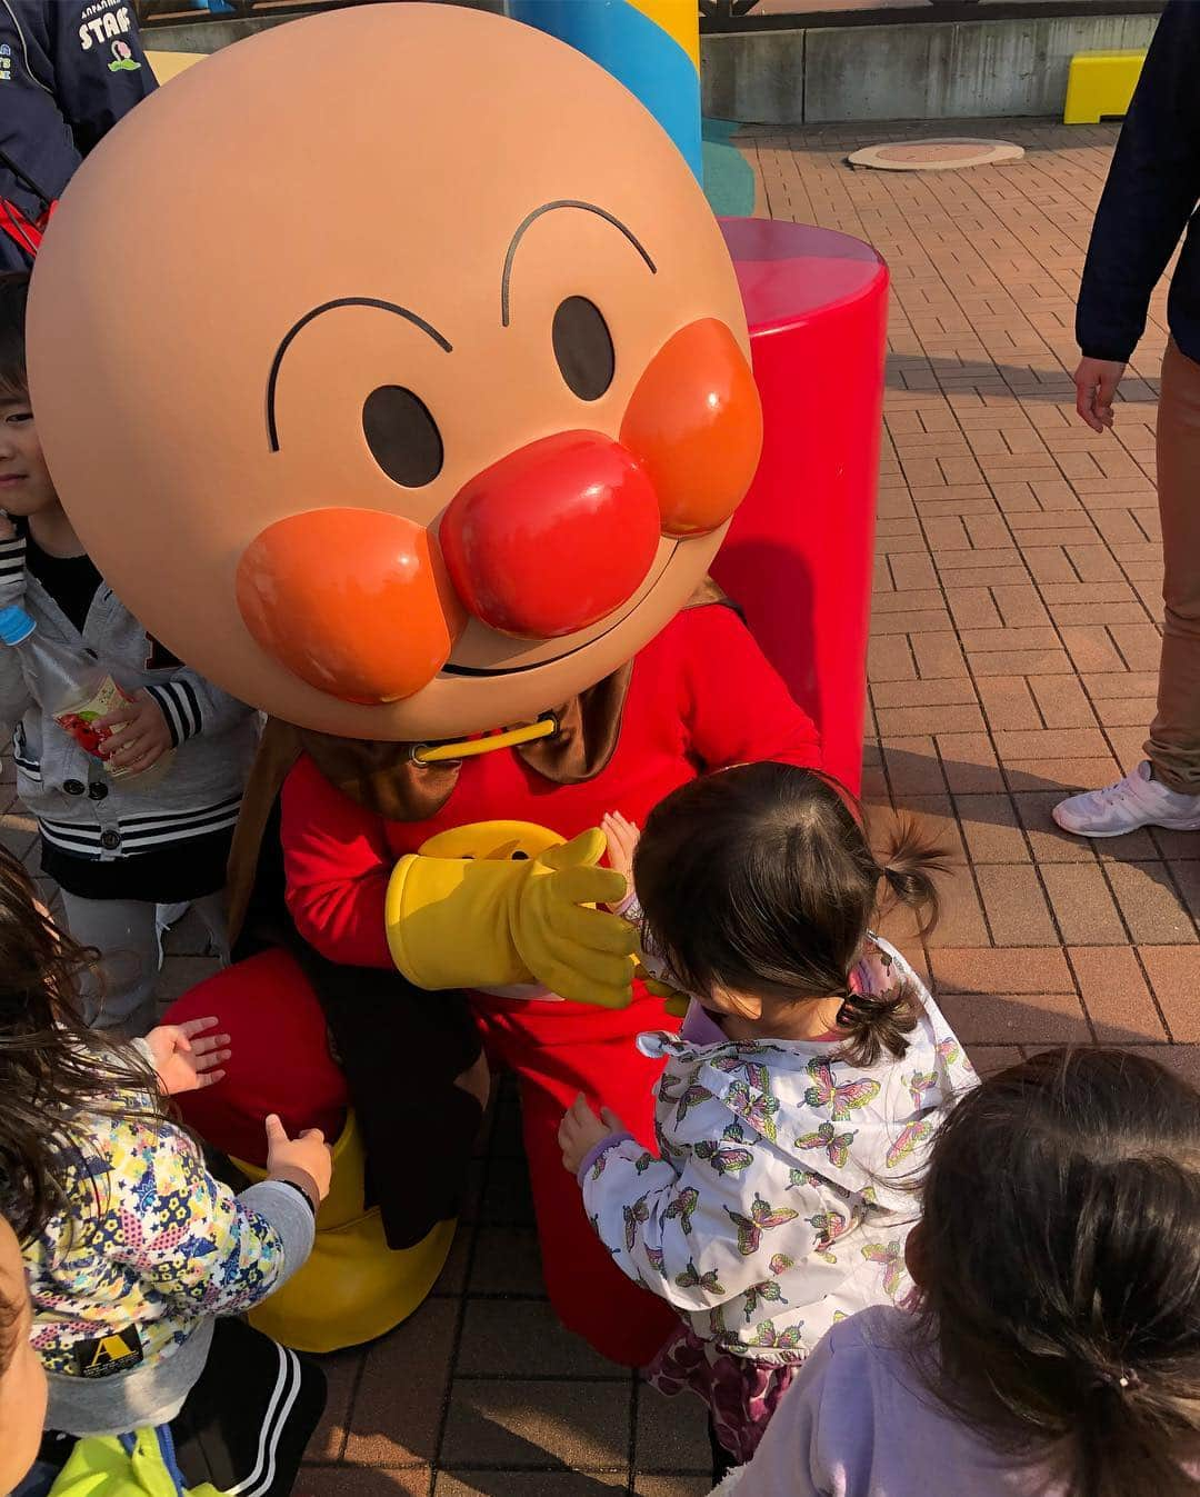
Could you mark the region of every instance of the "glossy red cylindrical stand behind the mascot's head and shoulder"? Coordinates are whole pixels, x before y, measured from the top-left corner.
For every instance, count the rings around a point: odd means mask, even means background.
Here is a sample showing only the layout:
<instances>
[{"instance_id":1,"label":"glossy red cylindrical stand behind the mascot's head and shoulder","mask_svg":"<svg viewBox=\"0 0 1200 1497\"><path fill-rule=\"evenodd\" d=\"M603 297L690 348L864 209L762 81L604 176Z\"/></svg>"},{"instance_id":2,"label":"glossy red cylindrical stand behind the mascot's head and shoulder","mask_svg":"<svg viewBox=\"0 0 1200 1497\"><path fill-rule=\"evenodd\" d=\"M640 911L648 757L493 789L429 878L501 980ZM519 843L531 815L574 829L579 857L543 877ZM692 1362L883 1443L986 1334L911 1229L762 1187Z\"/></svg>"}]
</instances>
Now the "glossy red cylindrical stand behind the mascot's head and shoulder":
<instances>
[{"instance_id":1,"label":"glossy red cylindrical stand behind the mascot's head and shoulder","mask_svg":"<svg viewBox=\"0 0 1200 1497\"><path fill-rule=\"evenodd\" d=\"M860 240L724 219L763 401L763 457L712 567L796 701L824 766L862 783L887 266Z\"/></svg>"}]
</instances>

